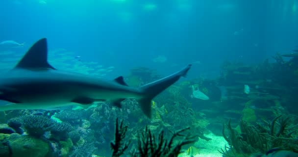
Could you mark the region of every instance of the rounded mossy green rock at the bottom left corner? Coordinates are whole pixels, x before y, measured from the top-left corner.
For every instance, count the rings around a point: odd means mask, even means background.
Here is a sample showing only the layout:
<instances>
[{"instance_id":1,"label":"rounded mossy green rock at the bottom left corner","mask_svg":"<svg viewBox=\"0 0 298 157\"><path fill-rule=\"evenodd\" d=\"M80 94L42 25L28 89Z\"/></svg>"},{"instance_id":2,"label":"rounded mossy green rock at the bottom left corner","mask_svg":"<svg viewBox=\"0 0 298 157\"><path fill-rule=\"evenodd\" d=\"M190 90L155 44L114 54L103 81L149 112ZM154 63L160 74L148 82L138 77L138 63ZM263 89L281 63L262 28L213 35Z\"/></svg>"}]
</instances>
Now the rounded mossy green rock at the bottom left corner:
<instances>
[{"instance_id":1,"label":"rounded mossy green rock at the bottom left corner","mask_svg":"<svg viewBox=\"0 0 298 157\"><path fill-rule=\"evenodd\" d=\"M47 157L51 153L48 142L29 135L9 138L9 143L12 150L11 157Z\"/></svg>"}]
</instances>

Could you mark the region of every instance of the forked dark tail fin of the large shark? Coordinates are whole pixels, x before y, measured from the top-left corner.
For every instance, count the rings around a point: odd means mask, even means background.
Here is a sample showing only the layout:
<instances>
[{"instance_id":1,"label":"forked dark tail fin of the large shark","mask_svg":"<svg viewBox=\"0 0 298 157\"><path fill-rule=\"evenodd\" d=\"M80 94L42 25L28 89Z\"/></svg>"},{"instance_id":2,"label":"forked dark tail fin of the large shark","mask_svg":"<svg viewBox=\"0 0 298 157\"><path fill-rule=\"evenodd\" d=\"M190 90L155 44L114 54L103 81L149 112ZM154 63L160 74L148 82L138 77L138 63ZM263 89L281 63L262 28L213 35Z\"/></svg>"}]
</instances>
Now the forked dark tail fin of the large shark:
<instances>
[{"instance_id":1,"label":"forked dark tail fin of the large shark","mask_svg":"<svg viewBox=\"0 0 298 157\"><path fill-rule=\"evenodd\" d=\"M147 117L151 117L151 100L159 93L167 89L169 86L174 84L179 78L185 77L191 66L192 65L189 64L182 70L168 77L161 78L159 80L145 84L144 86L140 87L141 91L144 94L144 97L140 99L138 102L141 106L142 111L145 113Z\"/></svg>"}]
</instances>

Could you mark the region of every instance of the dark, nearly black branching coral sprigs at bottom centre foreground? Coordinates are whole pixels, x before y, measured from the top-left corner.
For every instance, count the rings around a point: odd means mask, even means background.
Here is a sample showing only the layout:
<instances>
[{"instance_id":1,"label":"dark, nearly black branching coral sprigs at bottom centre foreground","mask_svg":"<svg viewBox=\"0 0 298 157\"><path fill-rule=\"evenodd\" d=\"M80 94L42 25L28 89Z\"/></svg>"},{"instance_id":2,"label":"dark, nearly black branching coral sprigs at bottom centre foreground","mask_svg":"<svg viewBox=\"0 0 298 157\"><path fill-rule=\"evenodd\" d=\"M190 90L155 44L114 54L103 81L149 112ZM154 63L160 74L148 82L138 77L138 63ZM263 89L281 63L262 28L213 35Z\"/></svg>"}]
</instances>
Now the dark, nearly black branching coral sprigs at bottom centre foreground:
<instances>
[{"instance_id":1,"label":"dark, nearly black branching coral sprigs at bottom centre foreground","mask_svg":"<svg viewBox=\"0 0 298 157\"><path fill-rule=\"evenodd\" d=\"M164 130L156 135L146 126L145 131L141 131L139 134L138 143L133 147L130 154L132 157L177 157L181 153L182 146L193 144L198 139L197 135L184 133L189 130L190 127L174 131L171 138L167 139ZM130 140L124 142L126 131L127 126L123 125L123 121L119 125L117 118L115 141L111 142L111 149L113 150L112 157L120 157L128 148ZM174 140L178 137L180 137L179 140Z\"/></svg>"}]
</instances>

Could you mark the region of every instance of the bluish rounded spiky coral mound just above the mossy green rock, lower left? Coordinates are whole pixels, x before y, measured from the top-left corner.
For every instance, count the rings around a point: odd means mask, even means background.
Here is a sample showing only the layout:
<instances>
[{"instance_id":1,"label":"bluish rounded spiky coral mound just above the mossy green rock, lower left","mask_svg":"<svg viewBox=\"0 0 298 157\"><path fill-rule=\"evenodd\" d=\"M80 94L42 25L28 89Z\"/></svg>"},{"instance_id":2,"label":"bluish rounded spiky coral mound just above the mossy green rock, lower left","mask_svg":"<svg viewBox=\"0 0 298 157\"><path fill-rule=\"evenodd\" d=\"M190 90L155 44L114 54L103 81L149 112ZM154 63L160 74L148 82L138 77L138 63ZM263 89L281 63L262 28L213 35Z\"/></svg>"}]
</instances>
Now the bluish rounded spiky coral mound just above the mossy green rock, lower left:
<instances>
[{"instance_id":1,"label":"bluish rounded spiky coral mound just above the mossy green rock, lower left","mask_svg":"<svg viewBox=\"0 0 298 157\"><path fill-rule=\"evenodd\" d=\"M50 131L55 124L53 120L47 117L36 115L22 116L22 120L27 133L35 137L40 137L46 131Z\"/></svg>"}]
</instances>

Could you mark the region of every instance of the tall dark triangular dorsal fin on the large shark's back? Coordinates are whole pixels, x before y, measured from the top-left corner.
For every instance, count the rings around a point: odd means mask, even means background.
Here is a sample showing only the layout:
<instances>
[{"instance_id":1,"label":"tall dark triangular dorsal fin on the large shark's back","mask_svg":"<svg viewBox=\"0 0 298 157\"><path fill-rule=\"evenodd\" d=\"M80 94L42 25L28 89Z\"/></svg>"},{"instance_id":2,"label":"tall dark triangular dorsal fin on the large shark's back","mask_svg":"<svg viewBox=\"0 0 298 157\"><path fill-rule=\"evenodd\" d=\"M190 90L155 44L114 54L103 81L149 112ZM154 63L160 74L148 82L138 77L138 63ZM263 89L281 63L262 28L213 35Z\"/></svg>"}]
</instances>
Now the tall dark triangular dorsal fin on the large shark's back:
<instances>
[{"instance_id":1,"label":"tall dark triangular dorsal fin on the large shark's back","mask_svg":"<svg viewBox=\"0 0 298 157\"><path fill-rule=\"evenodd\" d=\"M47 38L38 40L24 55L15 68L30 70L55 69L48 63Z\"/></svg>"}]
</instances>

